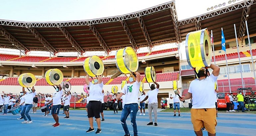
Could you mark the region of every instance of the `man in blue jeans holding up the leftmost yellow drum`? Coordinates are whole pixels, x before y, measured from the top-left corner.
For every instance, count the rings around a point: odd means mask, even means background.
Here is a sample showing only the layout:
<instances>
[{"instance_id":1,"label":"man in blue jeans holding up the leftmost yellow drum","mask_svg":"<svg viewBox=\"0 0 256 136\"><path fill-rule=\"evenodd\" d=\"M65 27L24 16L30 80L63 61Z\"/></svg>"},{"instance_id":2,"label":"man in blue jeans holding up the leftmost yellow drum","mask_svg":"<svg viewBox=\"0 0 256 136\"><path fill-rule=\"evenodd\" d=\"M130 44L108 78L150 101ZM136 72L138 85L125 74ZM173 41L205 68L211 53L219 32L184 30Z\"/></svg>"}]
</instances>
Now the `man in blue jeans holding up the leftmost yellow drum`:
<instances>
[{"instance_id":1,"label":"man in blue jeans holding up the leftmost yellow drum","mask_svg":"<svg viewBox=\"0 0 256 136\"><path fill-rule=\"evenodd\" d=\"M26 108L23 112L21 112L21 116L23 117L23 119L25 121L21 122L21 123L33 123L33 121L31 120L31 117L29 115L29 111L32 108L32 104L33 104L33 98L36 96L36 90L34 87L32 87L32 90L29 89L29 92L25 91L25 88L22 88L22 91L24 94L26 94L26 99L25 99L25 107ZM29 119L29 121L27 120L27 118Z\"/></svg>"}]
</instances>

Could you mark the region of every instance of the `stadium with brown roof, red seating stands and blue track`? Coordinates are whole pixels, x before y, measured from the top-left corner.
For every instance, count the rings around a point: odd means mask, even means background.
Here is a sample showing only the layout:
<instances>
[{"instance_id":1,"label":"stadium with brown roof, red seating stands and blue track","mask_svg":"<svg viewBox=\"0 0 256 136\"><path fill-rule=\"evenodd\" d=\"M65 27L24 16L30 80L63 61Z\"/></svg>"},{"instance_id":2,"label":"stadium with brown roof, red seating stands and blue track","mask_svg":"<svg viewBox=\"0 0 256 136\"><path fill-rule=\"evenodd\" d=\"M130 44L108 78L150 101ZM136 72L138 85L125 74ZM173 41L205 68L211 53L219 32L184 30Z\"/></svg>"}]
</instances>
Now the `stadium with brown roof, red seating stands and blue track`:
<instances>
[{"instance_id":1,"label":"stadium with brown roof, red seating stands and blue track","mask_svg":"<svg viewBox=\"0 0 256 136\"><path fill-rule=\"evenodd\" d=\"M18 97L22 87L17 81L18 77L24 73L35 75L37 93L54 94L56 91L47 83L45 74L49 69L57 68L63 73L63 81L71 84L70 107L84 108L86 106L83 90L86 84L84 60L96 55L104 64L102 82L105 92L104 102L107 103L113 99L112 87L117 86L118 92L121 92L122 81L129 81L129 78L117 69L116 52L125 47L132 47L138 56L137 72L141 75L145 93L151 90L144 73L146 67L154 66L156 82L160 85L157 95L158 126L147 126L147 115L139 116L138 111L138 135L194 135L190 112L182 112L181 117L174 118L173 110L160 112L161 101L167 99L168 108L172 108L174 101L170 99L170 96L175 95L173 81L178 82L180 95L185 96L188 93L190 84L196 77L186 58L186 36L190 32L207 28L213 33L214 47L211 46L211 62L220 67L217 90L222 94L233 93L234 102L237 101L238 92L242 91L245 108L249 112L245 114L219 113L216 134L253 136L256 129L256 115L250 110L256 109L254 102L256 99L256 1L241 0L234 4L228 1L225 7L207 12L185 20L178 20L175 1L170 1L134 13L92 20L20 22L0 19L0 48L16 49L20 53L19 55L12 52L0 54L1 95L4 91L10 92L15 98ZM225 34L226 51L222 50L221 28ZM161 48L162 46L165 48ZM36 51L48 52L49 55L29 55L30 52ZM74 52L77 55L62 56L62 52ZM211 73L212 70L209 69L209 72ZM243 89L239 90L239 88ZM38 95L38 100L38 107L44 106L45 97ZM224 97L219 97L218 106L225 103L223 100ZM146 107L147 102L145 101ZM188 108L189 103L190 100L186 100L180 102L180 105L182 108ZM235 102L235 109L237 105L238 103ZM120 106L121 101L118 108L122 109ZM221 108L226 108L226 104ZM124 135L120 123L121 114L113 115L112 112L112 108L104 111L105 121L101 123L100 135ZM22 129L23 124L16 120L19 114L1 115L1 128L5 130L13 127L15 130L12 131L21 136L28 133L27 130L32 130L33 135L40 136L49 132L52 135L95 135L85 133L89 127L85 110L70 110L69 120L63 119L64 115L60 112L61 126L56 128L57 131L50 127L50 124L54 123L53 118L42 117L42 115L40 109L32 114L34 122L25 124L26 129ZM132 134L129 119L127 122ZM168 132L170 130L172 133ZM205 132L203 134L207 135Z\"/></svg>"}]
</instances>

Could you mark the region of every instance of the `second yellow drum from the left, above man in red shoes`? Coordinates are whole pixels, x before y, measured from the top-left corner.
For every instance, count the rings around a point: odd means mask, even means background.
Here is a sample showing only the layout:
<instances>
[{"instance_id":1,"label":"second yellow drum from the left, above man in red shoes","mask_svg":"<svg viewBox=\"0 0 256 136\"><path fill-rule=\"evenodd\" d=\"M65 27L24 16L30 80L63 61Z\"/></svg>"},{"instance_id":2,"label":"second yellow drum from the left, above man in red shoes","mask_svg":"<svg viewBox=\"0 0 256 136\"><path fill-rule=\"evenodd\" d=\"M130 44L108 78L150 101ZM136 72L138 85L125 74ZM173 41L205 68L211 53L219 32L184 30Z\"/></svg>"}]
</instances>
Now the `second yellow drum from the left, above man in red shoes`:
<instances>
[{"instance_id":1,"label":"second yellow drum from the left, above man in red shoes","mask_svg":"<svg viewBox=\"0 0 256 136\"><path fill-rule=\"evenodd\" d=\"M50 81L54 85L60 85L63 81L63 73L59 69L53 69L49 75Z\"/></svg>"}]
</instances>

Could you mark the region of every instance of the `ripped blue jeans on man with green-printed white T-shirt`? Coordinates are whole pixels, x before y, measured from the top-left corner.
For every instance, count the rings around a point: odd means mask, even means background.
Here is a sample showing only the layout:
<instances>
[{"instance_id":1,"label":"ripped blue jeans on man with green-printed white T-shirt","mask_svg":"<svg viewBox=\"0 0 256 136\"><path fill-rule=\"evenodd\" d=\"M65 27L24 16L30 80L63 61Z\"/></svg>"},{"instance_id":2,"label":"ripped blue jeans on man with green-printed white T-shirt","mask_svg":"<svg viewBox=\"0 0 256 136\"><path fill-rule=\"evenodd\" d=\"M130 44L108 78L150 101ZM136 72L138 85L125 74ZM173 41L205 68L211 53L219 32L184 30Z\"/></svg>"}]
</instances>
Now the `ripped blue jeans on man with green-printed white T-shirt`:
<instances>
[{"instance_id":1,"label":"ripped blue jeans on man with green-printed white T-shirt","mask_svg":"<svg viewBox=\"0 0 256 136\"><path fill-rule=\"evenodd\" d=\"M138 103L124 104L124 108L123 108L120 120L121 120L122 127L124 129L124 132L127 135L130 134L126 124L126 119L129 116L129 114L131 114L133 134L138 135L137 124L136 124L136 115L139 110L138 106L139 106Z\"/></svg>"}]
</instances>

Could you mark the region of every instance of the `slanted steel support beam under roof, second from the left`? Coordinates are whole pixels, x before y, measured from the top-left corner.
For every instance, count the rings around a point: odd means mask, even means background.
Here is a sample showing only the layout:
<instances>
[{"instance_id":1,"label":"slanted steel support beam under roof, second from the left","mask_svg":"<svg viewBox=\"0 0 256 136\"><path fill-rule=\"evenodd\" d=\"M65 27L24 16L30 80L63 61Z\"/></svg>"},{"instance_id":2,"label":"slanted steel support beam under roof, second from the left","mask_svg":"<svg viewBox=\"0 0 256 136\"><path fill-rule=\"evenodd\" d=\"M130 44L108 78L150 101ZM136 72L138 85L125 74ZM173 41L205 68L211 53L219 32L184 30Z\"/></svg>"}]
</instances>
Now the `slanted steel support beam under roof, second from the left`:
<instances>
[{"instance_id":1,"label":"slanted steel support beam under roof, second from the left","mask_svg":"<svg viewBox=\"0 0 256 136\"><path fill-rule=\"evenodd\" d=\"M35 37L44 45L44 47L55 56L57 50L35 29L28 28L28 30L35 35Z\"/></svg>"}]
</instances>

